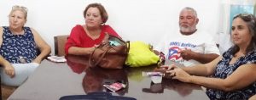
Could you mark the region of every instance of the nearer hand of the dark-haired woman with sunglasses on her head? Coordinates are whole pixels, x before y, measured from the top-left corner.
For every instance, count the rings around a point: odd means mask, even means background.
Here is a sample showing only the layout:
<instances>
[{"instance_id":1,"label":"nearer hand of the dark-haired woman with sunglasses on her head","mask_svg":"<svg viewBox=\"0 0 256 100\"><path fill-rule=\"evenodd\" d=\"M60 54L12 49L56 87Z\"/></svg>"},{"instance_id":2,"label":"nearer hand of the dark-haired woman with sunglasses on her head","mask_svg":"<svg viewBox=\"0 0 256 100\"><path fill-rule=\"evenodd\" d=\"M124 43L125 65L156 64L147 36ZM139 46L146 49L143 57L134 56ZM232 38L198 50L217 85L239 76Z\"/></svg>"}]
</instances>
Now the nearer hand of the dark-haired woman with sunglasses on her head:
<instances>
[{"instance_id":1,"label":"nearer hand of the dark-haired woman with sunglasses on her head","mask_svg":"<svg viewBox=\"0 0 256 100\"><path fill-rule=\"evenodd\" d=\"M178 81L183 81L183 82L189 82L190 81L190 76L191 75L189 75L183 69L176 68L176 69L166 71L166 73L170 73L170 77L172 77L172 79L177 79Z\"/></svg>"}]
</instances>

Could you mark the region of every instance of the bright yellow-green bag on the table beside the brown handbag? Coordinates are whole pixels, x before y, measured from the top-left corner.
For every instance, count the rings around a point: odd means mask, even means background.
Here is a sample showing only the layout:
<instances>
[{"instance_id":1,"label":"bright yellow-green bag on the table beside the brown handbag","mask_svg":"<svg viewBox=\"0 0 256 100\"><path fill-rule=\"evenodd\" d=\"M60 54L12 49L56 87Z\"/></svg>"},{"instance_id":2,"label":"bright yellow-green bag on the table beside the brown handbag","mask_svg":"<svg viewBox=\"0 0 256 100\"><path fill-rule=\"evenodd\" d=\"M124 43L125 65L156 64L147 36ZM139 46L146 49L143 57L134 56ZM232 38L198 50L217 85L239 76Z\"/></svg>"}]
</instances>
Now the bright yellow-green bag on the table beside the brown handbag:
<instances>
[{"instance_id":1,"label":"bright yellow-green bag on the table beside the brown handbag","mask_svg":"<svg viewBox=\"0 0 256 100\"><path fill-rule=\"evenodd\" d=\"M160 60L159 56L150 50L150 45L144 42L130 42L130 50L125 64L130 67L148 66L157 64Z\"/></svg>"}]
</instances>

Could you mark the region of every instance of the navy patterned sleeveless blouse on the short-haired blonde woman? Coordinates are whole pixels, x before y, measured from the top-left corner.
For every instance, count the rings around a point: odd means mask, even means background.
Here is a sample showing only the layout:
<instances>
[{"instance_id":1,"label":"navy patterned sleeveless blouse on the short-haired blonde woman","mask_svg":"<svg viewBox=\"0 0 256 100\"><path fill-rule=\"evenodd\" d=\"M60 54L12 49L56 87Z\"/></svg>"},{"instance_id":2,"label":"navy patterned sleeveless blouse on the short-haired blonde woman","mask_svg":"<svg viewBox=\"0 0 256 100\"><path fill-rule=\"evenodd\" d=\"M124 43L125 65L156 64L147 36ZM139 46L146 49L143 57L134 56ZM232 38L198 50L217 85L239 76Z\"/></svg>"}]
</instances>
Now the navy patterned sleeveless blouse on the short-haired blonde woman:
<instances>
[{"instance_id":1,"label":"navy patterned sleeveless blouse on the short-haired blonde woman","mask_svg":"<svg viewBox=\"0 0 256 100\"><path fill-rule=\"evenodd\" d=\"M11 64L31 63L38 55L38 47L29 27L23 27L24 35L14 35L3 26L3 43L0 54Z\"/></svg>"}]
</instances>

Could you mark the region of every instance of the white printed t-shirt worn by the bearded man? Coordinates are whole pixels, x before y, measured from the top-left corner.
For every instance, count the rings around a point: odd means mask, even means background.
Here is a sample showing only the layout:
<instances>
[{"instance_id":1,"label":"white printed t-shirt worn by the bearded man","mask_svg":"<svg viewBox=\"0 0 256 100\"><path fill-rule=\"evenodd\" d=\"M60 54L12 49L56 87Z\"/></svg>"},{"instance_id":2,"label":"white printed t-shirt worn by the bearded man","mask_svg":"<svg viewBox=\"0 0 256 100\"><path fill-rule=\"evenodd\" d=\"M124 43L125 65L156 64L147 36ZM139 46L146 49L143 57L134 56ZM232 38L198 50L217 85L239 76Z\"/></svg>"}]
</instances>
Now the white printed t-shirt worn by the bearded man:
<instances>
[{"instance_id":1,"label":"white printed t-shirt worn by the bearded man","mask_svg":"<svg viewBox=\"0 0 256 100\"><path fill-rule=\"evenodd\" d=\"M172 60L184 66L201 64L193 59L183 60L179 51L186 48L195 53L216 53L219 55L218 47L212 36L200 30L189 36L182 35L179 31L175 34L170 34L155 47L155 50L165 53L166 60Z\"/></svg>"}]
</instances>

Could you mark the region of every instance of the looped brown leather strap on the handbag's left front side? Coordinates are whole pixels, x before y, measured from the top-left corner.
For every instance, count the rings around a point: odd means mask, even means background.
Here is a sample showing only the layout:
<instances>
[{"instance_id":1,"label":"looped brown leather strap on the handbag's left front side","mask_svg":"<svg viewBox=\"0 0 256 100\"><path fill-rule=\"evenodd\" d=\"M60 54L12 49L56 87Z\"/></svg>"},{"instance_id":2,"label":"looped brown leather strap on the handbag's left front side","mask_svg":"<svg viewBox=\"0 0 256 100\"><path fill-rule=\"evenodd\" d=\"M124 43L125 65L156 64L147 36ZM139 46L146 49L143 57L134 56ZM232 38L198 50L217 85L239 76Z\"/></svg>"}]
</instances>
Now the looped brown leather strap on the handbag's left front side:
<instances>
[{"instance_id":1,"label":"looped brown leather strap on the handbag's left front side","mask_svg":"<svg viewBox=\"0 0 256 100\"><path fill-rule=\"evenodd\" d=\"M92 64L92 60L91 59L92 59L92 56L95 53L96 49L98 49L99 47L103 47L104 45L107 45L107 44L106 43L102 43L100 46L96 47L94 49L94 51L90 54L90 58L89 58L89 65L90 65L90 67L95 67L97 64L99 64L102 61L102 58L104 58L104 56L108 53L108 50L110 49L110 47L108 47L107 50L104 53L102 53L102 56L99 58L98 61L96 61L95 64Z\"/></svg>"}]
</instances>

